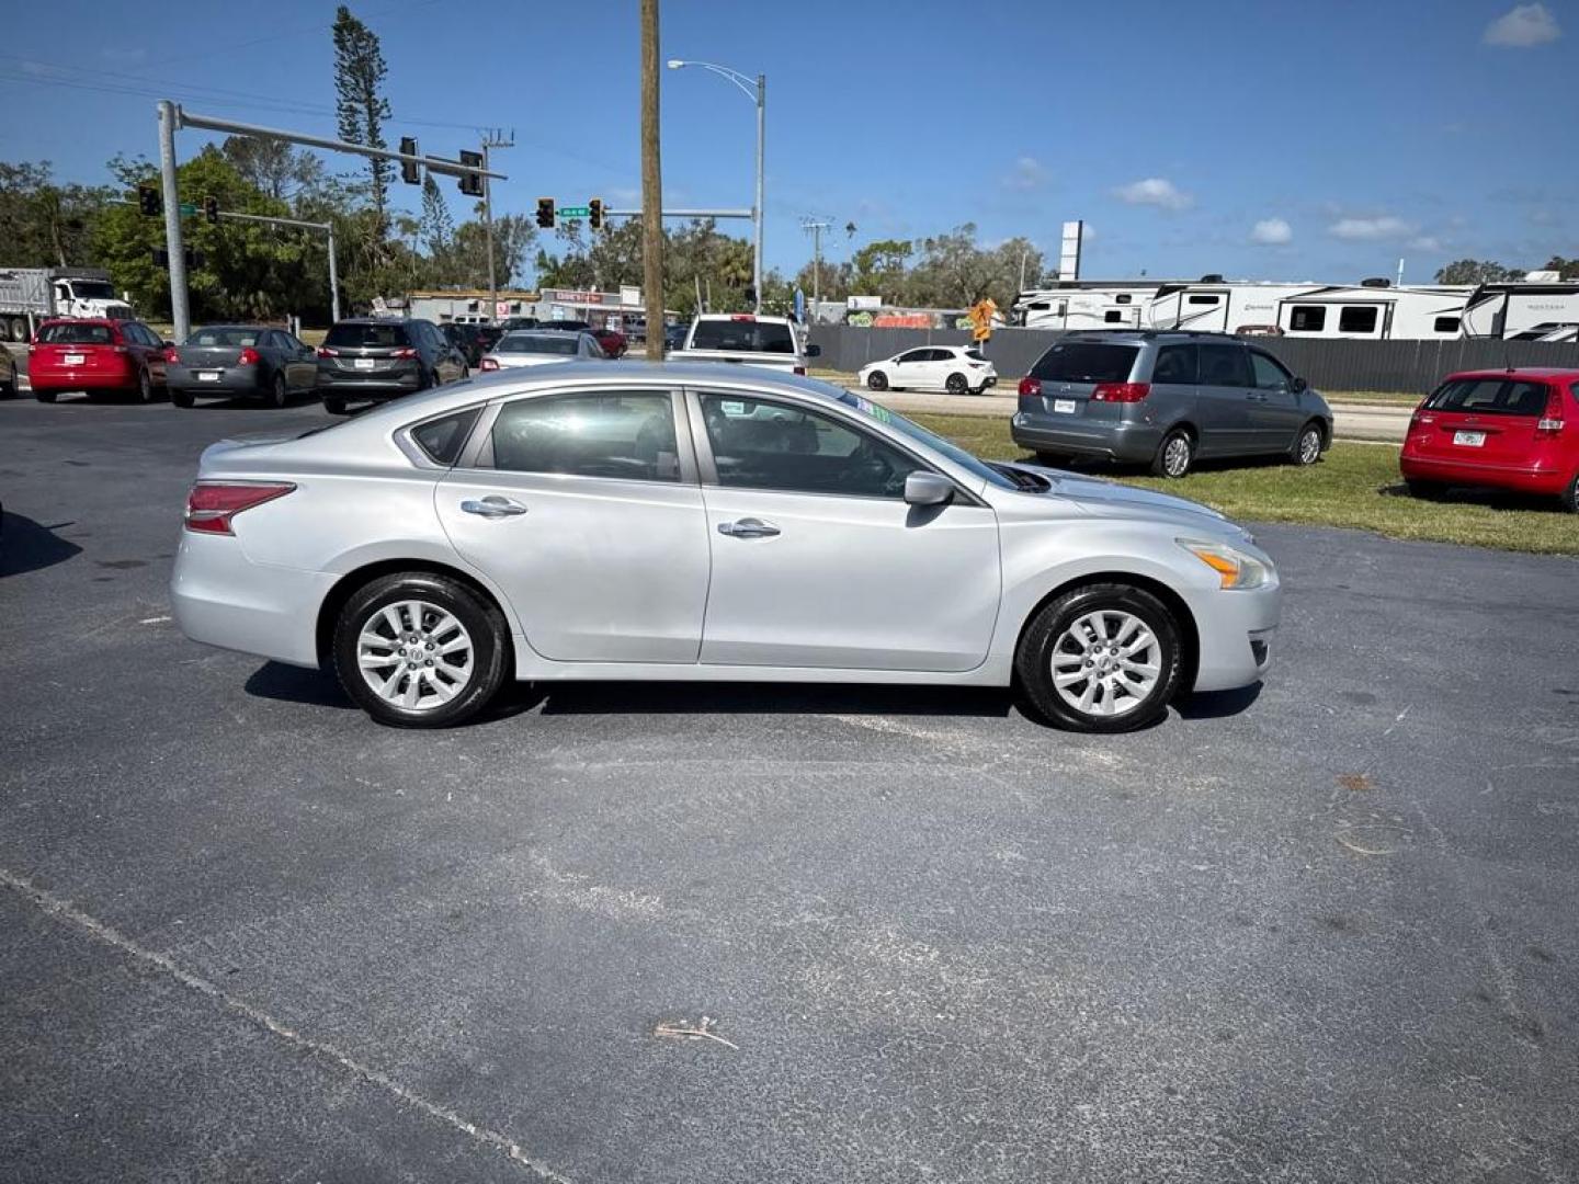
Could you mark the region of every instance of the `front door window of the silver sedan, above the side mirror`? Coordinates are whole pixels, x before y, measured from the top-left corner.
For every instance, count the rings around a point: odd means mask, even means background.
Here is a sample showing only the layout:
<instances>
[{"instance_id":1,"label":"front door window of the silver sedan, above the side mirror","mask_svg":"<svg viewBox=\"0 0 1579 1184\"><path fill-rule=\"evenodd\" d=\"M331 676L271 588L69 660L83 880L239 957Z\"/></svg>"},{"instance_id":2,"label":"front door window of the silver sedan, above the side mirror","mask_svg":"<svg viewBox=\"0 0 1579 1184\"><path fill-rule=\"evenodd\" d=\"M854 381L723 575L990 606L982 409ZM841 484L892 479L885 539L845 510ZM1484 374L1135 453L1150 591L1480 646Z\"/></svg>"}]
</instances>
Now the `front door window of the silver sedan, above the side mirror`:
<instances>
[{"instance_id":1,"label":"front door window of the silver sedan, above the side mirror","mask_svg":"<svg viewBox=\"0 0 1579 1184\"><path fill-rule=\"evenodd\" d=\"M925 470L886 440L786 403L703 395L701 407L723 486L900 499L905 478Z\"/></svg>"}]
</instances>

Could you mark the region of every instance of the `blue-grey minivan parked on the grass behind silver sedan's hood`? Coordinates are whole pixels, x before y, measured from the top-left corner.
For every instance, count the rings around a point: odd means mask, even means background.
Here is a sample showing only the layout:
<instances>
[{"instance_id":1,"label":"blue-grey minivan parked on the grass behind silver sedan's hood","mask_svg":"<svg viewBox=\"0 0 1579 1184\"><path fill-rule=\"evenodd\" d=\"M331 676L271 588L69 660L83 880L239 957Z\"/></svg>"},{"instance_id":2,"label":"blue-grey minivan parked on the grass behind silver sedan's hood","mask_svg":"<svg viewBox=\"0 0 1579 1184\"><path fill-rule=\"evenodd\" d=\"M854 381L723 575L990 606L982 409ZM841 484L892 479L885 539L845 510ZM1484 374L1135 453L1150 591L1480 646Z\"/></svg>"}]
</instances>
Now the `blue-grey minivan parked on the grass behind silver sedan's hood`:
<instances>
[{"instance_id":1,"label":"blue-grey minivan parked on the grass behind silver sedan's hood","mask_svg":"<svg viewBox=\"0 0 1579 1184\"><path fill-rule=\"evenodd\" d=\"M1221 333L1091 332L1056 341L1020 380L1014 442L1047 464L1099 458L1183 477L1197 458L1333 442L1326 401L1260 346Z\"/></svg>"}]
</instances>

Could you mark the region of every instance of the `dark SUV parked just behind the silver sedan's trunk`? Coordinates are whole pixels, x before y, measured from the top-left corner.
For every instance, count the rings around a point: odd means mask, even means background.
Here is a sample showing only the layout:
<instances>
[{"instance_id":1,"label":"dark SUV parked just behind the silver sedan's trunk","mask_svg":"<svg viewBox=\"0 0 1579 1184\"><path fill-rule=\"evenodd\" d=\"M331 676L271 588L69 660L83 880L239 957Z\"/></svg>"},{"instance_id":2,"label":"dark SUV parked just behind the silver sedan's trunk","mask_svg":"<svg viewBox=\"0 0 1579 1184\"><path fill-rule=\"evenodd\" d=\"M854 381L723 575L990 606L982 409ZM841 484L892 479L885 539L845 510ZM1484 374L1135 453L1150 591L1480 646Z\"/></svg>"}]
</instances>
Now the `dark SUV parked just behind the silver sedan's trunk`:
<instances>
[{"instance_id":1,"label":"dark SUV parked just behind the silver sedan's trunk","mask_svg":"<svg viewBox=\"0 0 1579 1184\"><path fill-rule=\"evenodd\" d=\"M317 388L335 415L344 415L351 399L382 403L469 373L466 357L431 320L338 320L317 350Z\"/></svg>"}]
</instances>

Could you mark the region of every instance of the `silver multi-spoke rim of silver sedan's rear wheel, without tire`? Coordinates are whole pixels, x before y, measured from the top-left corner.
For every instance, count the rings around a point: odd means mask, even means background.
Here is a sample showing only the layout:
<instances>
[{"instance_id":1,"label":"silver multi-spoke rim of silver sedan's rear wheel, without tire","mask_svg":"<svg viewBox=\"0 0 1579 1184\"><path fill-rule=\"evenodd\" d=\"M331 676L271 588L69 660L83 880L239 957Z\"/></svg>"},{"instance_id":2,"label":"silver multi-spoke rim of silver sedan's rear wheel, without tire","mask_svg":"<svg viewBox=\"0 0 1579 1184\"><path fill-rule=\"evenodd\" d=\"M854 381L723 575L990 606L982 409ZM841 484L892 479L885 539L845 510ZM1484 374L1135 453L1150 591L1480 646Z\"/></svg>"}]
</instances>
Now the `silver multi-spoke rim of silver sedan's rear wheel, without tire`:
<instances>
[{"instance_id":1,"label":"silver multi-spoke rim of silver sedan's rear wheel, without tire","mask_svg":"<svg viewBox=\"0 0 1579 1184\"><path fill-rule=\"evenodd\" d=\"M453 613L426 600L399 600L362 622L357 666L384 703L431 712L466 690L477 655L472 635Z\"/></svg>"}]
</instances>

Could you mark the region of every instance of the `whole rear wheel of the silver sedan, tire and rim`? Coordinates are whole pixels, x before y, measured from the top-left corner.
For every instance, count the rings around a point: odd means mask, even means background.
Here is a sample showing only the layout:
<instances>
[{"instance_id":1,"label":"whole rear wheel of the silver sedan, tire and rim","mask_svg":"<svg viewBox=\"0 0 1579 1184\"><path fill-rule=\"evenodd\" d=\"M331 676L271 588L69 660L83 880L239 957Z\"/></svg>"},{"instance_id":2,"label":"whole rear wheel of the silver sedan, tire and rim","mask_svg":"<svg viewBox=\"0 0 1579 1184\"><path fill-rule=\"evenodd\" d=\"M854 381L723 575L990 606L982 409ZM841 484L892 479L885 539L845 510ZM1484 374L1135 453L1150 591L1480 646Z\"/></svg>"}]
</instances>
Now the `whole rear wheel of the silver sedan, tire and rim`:
<instances>
[{"instance_id":1,"label":"whole rear wheel of the silver sedan, tire and rim","mask_svg":"<svg viewBox=\"0 0 1579 1184\"><path fill-rule=\"evenodd\" d=\"M395 728L444 728L475 715L504 682L508 655L499 609L426 571L374 579L335 625L341 685Z\"/></svg>"}]
</instances>

